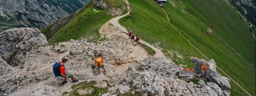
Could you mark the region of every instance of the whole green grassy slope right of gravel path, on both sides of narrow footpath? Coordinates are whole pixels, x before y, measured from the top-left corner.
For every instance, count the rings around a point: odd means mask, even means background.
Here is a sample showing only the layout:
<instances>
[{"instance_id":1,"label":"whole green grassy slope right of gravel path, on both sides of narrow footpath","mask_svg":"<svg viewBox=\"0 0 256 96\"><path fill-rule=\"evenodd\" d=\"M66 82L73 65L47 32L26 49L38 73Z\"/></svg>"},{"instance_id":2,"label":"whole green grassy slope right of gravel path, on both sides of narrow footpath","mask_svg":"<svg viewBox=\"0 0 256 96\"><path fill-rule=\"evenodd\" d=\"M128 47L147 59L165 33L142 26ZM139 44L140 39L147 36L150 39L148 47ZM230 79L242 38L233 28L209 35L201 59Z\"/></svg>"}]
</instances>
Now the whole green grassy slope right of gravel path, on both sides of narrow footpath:
<instances>
[{"instance_id":1,"label":"whole green grassy slope right of gravel path, on both sides of narrow footpath","mask_svg":"<svg viewBox=\"0 0 256 96\"><path fill-rule=\"evenodd\" d=\"M131 18L120 19L120 24L136 32L151 43L159 42L165 54L179 63L192 67L190 57L205 59L168 22L164 11L153 0L128 0L132 5ZM166 3L171 23L208 58L250 94L255 95L255 40L246 22L222 0L172 0ZM213 10L214 9L214 10ZM214 24L211 36L202 30ZM176 56L167 51L177 52ZM241 54L239 56L237 53ZM182 55L183 59L178 55ZM248 64L249 63L249 64ZM222 73L223 75L223 73ZM227 76L226 76L227 77ZM246 95L234 82L231 95Z\"/></svg>"}]
</instances>

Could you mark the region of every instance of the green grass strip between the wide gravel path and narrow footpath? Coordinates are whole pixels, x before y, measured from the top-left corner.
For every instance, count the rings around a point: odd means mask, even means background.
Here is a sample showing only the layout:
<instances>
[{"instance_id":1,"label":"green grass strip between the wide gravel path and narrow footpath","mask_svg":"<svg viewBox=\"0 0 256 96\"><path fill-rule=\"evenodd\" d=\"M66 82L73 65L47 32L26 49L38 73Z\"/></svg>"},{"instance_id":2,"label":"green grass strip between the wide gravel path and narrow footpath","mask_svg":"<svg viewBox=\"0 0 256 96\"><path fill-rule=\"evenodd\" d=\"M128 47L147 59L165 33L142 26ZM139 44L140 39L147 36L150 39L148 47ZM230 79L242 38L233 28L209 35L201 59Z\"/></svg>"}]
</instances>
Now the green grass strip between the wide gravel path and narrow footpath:
<instances>
[{"instance_id":1,"label":"green grass strip between the wide gravel path and narrow footpath","mask_svg":"<svg viewBox=\"0 0 256 96\"><path fill-rule=\"evenodd\" d=\"M163 48L166 55L174 57L176 64L192 67L191 56L205 59L180 33L170 27L166 14L153 1L130 2L133 6L131 18L126 16L119 21L126 29L131 29L144 41Z\"/></svg>"}]
</instances>

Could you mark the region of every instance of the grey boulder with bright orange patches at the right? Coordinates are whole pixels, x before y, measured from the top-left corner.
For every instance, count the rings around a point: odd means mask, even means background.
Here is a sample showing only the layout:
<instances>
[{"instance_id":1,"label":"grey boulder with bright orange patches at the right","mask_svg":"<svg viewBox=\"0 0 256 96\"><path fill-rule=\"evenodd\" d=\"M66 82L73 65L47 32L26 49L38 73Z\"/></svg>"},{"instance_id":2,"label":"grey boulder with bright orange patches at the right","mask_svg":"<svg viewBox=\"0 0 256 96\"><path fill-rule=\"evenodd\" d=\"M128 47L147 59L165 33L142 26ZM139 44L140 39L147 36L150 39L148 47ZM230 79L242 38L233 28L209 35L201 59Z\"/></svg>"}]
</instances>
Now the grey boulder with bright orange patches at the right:
<instances>
[{"instance_id":1,"label":"grey boulder with bright orange patches at the right","mask_svg":"<svg viewBox=\"0 0 256 96\"><path fill-rule=\"evenodd\" d=\"M210 61L205 61L203 59L200 60L198 58L192 57L191 60L194 63L194 69L183 69L178 73L183 80L192 81L200 78L204 80L205 83L207 83L207 85L203 86L210 87L214 92L216 92L217 95L230 95L230 80L227 77L220 75L220 73L216 70L216 63L213 59Z\"/></svg>"}]
</instances>

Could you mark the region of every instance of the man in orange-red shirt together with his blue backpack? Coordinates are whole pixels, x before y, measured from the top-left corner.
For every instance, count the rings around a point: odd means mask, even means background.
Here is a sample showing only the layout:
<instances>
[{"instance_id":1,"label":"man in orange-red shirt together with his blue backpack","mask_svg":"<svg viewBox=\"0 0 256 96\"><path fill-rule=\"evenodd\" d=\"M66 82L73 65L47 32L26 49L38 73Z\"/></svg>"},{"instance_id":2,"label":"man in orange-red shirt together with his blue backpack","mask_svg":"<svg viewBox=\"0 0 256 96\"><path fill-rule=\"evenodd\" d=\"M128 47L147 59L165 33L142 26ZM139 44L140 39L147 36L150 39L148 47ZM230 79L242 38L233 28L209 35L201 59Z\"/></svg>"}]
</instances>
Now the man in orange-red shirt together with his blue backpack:
<instances>
[{"instance_id":1,"label":"man in orange-red shirt together with his blue backpack","mask_svg":"<svg viewBox=\"0 0 256 96\"><path fill-rule=\"evenodd\" d=\"M63 57L63 58L62 58L62 62L60 62L60 63L57 62L57 63L54 65L54 67L53 67L53 69L54 69L54 74L55 74L57 77L58 77L58 76L64 77L64 80L63 80L62 84L67 83L66 79L67 79L67 78L70 78L70 77L71 77L73 83L74 83L74 82L78 82L78 80L75 80L75 79L74 79L74 75L73 75L73 74L67 73L67 72L65 71L64 63L66 63L66 62L67 62L67 57ZM58 68L58 70L57 70L57 68ZM59 72L58 72L58 71L59 71Z\"/></svg>"}]
</instances>

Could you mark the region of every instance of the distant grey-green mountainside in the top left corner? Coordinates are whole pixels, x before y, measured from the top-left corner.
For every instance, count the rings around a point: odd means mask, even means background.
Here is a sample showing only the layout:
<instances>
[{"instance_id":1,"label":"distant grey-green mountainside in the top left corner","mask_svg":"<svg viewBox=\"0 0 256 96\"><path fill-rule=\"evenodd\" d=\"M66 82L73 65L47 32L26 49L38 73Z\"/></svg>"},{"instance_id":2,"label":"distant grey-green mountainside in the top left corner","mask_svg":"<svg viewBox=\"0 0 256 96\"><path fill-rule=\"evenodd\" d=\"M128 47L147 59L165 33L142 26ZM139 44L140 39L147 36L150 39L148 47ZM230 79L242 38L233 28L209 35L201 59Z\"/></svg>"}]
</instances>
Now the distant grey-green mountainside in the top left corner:
<instances>
[{"instance_id":1,"label":"distant grey-green mountainside in the top left corner","mask_svg":"<svg viewBox=\"0 0 256 96\"><path fill-rule=\"evenodd\" d=\"M13 27L43 28L90 0L1 0L0 32Z\"/></svg>"}]
</instances>

